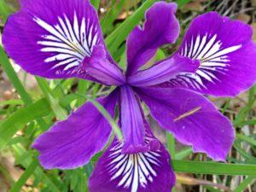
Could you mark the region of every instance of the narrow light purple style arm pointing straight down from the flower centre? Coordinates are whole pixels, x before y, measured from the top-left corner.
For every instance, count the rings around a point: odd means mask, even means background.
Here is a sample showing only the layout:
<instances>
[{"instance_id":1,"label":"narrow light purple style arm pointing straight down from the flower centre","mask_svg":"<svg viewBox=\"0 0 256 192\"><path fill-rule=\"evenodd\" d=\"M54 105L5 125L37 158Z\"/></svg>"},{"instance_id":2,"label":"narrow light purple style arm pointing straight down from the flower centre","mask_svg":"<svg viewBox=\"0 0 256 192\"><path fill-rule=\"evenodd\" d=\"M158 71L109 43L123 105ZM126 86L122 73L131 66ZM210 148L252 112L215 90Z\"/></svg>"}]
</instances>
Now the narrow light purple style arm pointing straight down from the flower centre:
<instances>
[{"instance_id":1,"label":"narrow light purple style arm pointing straight down from the flower centre","mask_svg":"<svg viewBox=\"0 0 256 192\"><path fill-rule=\"evenodd\" d=\"M129 85L121 86L121 129L125 138L124 153L147 151L144 143L145 127L139 102Z\"/></svg>"}]
</instances>

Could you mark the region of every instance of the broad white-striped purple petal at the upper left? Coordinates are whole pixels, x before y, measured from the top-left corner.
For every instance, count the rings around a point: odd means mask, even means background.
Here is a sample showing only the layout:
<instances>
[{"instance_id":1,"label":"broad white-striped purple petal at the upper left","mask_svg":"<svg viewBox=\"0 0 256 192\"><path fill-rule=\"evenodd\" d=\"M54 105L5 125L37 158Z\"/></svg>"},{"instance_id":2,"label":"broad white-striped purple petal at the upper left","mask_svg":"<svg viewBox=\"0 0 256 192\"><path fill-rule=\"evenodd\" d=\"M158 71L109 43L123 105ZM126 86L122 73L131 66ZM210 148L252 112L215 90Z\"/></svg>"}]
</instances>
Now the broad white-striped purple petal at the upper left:
<instances>
[{"instance_id":1,"label":"broad white-striped purple petal at the upper left","mask_svg":"<svg viewBox=\"0 0 256 192\"><path fill-rule=\"evenodd\" d=\"M108 54L88 0L22 0L20 11L4 27L3 45L26 72L51 79L88 79L84 57L95 45Z\"/></svg>"}]
</instances>

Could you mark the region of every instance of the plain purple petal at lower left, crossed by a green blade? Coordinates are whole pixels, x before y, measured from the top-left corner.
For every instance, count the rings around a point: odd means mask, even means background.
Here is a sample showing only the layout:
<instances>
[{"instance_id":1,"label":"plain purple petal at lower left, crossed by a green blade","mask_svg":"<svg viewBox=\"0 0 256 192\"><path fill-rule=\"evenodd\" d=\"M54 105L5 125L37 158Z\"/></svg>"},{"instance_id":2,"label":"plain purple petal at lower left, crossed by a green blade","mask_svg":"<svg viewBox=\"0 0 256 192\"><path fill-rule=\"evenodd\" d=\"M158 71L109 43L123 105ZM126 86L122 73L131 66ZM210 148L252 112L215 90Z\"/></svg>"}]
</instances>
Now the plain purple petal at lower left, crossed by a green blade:
<instances>
[{"instance_id":1,"label":"plain purple petal at lower left, crossed by a green blade","mask_svg":"<svg viewBox=\"0 0 256 192\"><path fill-rule=\"evenodd\" d=\"M112 116L117 101L116 91L97 99ZM73 169L84 166L102 150L110 133L108 120L91 102L86 102L67 120L55 123L49 131L39 136L32 147L40 152L39 160L44 168Z\"/></svg>"}]
</instances>

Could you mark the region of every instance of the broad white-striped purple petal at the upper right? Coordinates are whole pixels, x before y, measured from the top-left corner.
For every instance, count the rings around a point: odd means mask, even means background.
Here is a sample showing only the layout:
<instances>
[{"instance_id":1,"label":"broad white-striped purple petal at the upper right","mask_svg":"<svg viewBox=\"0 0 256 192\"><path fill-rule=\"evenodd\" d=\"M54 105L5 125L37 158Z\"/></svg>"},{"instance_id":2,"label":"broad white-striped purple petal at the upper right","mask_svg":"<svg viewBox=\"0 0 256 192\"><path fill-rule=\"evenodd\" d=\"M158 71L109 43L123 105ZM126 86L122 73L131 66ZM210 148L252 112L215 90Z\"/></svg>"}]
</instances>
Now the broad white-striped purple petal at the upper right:
<instances>
[{"instance_id":1,"label":"broad white-striped purple petal at the upper right","mask_svg":"<svg viewBox=\"0 0 256 192\"><path fill-rule=\"evenodd\" d=\"M236 96L256 81L252 28L210 12L192 21L177 54L201 61L196 73L180 73L169 85L212 96Z\"/></svg>"}]
</instances>

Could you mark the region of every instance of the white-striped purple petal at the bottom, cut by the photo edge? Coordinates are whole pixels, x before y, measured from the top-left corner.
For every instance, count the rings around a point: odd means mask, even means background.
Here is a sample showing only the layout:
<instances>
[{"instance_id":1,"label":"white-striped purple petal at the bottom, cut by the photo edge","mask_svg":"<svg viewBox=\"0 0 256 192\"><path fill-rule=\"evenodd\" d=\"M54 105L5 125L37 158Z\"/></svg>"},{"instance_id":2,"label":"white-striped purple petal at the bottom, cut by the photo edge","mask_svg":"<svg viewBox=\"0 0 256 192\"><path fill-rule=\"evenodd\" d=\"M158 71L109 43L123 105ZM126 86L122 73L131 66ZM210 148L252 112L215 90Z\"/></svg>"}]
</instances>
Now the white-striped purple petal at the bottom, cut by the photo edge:
<instances>
[{"instance_id":1,"label":"white-striped purple petal at the bottom, cut by the photo edge","mask_svg":"<svg viewBox=\"0 0 256 192\"><path fill-rule=\"evenodd\" d=\"M154 138L146 126L146 138ZM160 144L160 142L158 142ZM89 180L90 192L170 192L175 174L170 155L160 144L157 150L122 154L123 143L116 139L96 163Z\"/></svg>"}]
</instances>

